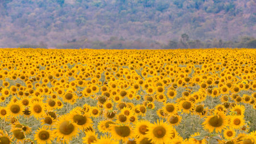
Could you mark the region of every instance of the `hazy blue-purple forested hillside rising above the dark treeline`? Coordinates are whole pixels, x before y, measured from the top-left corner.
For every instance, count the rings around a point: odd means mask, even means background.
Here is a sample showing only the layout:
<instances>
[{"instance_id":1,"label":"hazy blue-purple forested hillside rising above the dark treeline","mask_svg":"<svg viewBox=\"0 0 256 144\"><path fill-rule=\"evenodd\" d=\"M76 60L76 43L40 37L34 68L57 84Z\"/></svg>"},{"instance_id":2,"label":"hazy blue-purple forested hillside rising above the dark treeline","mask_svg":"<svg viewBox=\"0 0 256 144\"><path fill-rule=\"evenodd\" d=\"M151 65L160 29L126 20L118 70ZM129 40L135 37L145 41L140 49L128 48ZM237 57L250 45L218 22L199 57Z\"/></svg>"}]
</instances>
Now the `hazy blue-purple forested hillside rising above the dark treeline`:
<instances>
[{"instance_id":1,"label":"hazy blue-purple forested hillside rising above the dark treeline","mask_svg":"<svg viewBox=\"0 0 256 144\"><path fill-rule=\"evenodd\" d=\"M255 0L0 0L0 47L73 38L256 37Z\"/></svg>"}]
</instances>

